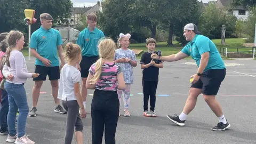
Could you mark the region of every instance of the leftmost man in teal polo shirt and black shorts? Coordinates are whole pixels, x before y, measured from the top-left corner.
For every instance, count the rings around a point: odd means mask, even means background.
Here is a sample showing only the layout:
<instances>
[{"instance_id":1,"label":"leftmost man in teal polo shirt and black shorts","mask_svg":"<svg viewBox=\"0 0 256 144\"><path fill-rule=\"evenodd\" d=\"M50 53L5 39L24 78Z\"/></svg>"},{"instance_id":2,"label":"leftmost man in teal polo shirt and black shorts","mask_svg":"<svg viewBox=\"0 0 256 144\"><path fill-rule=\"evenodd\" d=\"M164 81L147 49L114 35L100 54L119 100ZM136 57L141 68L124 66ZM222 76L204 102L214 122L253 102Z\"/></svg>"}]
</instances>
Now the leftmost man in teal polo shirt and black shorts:
<instances>
[{"instance_id":1,"label":"leftmost man in teal polo shirt and black shorts","mask_svg":"<svg viewBox=\"0 0 256 144\"><path fill-rule=\"evenodd\" d=\"M55 102L56 113L66 114L66 111L61 107L58 99L58 79L60 78L60 68L63 67L65 61L62 57L62 39L58 30L52 28L52 16L48 13L40 15L42 26L37 29L30 40L30 51L36 57L35 73L39 76L34 78L35 85L32 89L33 108L29 111L29 116L36 116L37 102L39 92L48 75L52 85L52 96ZM61 65L59 63L57 51L60 56Z\"/></svg>"}]
</instances>

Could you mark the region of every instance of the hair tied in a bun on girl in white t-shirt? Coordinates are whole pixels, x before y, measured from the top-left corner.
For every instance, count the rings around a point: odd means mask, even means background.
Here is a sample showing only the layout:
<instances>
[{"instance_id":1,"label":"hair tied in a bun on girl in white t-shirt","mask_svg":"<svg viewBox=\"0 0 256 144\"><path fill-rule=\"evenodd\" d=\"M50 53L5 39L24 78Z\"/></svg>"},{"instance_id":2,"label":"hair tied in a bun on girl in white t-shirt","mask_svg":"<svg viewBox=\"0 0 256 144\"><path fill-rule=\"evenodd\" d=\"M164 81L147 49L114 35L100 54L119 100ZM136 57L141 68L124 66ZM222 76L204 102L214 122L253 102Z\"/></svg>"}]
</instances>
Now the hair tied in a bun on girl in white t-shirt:
<instances>
[{"instance_id":1,"label":"hair tied in a bun on girl in white t-shirt","mask_svg":"<svg viewBox=\"0 0 256 144\"><path fill-rule=\"evenodd\" d=\"M65 50L66 51L63 56L67 59L67 61L74 60L79 54L81 54L81 48L77 44L67 43L65 46Z\"/></svg>"}]
</instances>

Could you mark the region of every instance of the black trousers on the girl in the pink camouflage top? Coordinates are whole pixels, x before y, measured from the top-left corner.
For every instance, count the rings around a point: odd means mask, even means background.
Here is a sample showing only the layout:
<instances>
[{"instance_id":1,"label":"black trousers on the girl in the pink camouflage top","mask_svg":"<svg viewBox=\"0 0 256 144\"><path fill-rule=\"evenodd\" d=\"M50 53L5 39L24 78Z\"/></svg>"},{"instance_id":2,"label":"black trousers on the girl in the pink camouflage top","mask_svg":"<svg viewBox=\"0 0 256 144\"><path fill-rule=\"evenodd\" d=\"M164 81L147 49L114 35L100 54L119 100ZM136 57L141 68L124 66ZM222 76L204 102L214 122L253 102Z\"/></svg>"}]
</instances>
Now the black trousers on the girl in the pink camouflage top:
<instances>
[{"instance_id":1,"label":"black trousers on the girl in the pink camouflage top","mask_svg":"<svg viewBox=\"0 0 256 144\"><path fill-rule=\"evenodd\" d=\"M115 144L116 126L119 115L119 100L117 91L102 91L96 89L93 94L92 144L101 144L105 130L105 143Z\"/></svg>"}]
</instances>

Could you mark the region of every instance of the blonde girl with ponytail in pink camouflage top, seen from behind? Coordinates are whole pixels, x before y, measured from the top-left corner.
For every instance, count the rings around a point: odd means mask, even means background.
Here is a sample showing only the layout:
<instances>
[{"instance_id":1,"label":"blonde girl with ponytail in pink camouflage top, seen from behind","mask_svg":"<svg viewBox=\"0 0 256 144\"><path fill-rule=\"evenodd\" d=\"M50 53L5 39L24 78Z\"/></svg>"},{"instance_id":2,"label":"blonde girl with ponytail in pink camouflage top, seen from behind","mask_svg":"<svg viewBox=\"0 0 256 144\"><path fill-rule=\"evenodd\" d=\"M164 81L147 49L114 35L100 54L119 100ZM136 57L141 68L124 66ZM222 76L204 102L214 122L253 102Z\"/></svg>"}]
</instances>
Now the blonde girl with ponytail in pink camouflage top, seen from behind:
<instances>
[{"instance_id":1,"label":"blonde girl with ponytail in pink camouflage top, seen from behind","mask_svg":"<svg viewBox=\"0 0 256 144\"><path fill-rule=\"evenodd\" d=\"M125 87L123 72L113 60L115 42L110 38L99 42L100 58L89 69L87 89L95 89L92 99L92 144L102 143L105 130L105 143L115 143L118 121L119 100L117 89ZM118 84L117 84L118 83Z\"/></svg>"}]
</instances>

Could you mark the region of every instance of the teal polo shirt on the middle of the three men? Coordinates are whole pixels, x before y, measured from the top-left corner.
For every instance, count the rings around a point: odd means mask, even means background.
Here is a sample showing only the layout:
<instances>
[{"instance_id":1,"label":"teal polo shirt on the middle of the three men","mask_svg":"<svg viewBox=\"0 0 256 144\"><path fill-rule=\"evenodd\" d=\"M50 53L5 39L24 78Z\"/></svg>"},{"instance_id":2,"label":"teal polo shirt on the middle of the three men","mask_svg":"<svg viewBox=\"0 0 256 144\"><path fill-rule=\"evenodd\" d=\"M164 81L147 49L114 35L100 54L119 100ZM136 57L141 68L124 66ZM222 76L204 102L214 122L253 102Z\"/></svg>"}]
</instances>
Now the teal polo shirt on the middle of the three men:
<instances>
[{"instance_id":1,"label":"teal polo shirt on the middle of the three men","mask_svg":"<svg viewBox=\"0 0 256 144\"><path fill-rule=\"evenodd\" d=\"M79 33L76 44L81 47L83 56L98 56L99 49L97 45L102 37L105 36L101 30L94 28L93 31L90 31L87 27Z\"/></svg>"}]
</instances>

